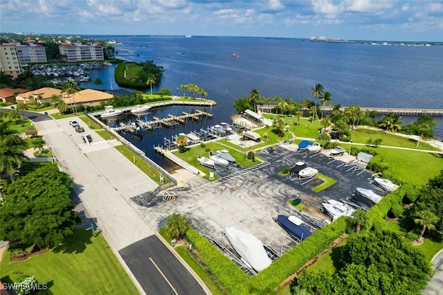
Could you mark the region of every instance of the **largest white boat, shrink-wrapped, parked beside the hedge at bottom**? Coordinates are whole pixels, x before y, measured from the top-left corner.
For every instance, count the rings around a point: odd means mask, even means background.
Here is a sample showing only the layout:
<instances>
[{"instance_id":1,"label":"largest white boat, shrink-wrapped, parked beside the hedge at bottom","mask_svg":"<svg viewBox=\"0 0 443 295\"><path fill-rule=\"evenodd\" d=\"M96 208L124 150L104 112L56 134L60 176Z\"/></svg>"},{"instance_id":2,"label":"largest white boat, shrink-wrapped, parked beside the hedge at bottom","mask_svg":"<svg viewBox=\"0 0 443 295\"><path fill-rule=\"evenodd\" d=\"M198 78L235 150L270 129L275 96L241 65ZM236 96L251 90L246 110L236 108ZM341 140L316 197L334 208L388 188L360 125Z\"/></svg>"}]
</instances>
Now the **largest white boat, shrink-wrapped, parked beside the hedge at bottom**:
<instances>
[{"instance_id":1,"label":"largest white boat, shrink-wrapped, parked beside the hedge at bottom","mask_svg":"<svg viewBox=\"0 0 443 295\"><path fill-rule=\"evenodd\" d=\"M271 258L255 235L235 226L226 227L224 234L242 261L255 271L262 271L271 265Z\"/></svg>"}]
</instances>

